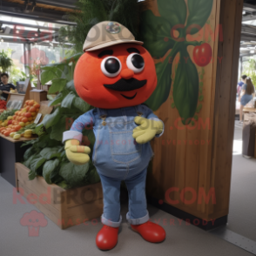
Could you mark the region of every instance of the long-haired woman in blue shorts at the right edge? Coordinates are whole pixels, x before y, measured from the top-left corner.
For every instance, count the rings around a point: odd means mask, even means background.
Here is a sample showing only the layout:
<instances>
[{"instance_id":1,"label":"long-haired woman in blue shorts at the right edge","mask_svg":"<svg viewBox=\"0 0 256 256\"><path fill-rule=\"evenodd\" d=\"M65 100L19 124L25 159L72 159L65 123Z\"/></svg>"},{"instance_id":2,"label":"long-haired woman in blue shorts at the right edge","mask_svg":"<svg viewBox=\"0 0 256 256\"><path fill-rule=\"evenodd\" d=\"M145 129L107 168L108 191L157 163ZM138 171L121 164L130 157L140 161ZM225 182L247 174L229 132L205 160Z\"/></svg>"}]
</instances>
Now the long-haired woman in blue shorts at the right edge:
<instances>
[{"instance_id":1,"label":"long-haired woman in blue shorts at the right edge","mask_svg":"<svg viewBox=\"0 0 256 256\"><path fill-rule=\"evenodd\" d=\"M243 122L243 109L246 104L248 104L253 97L255 96L255 88L252 82L251 77L246 78L246 83L242 86L242 90L240 92L240 120L239 124Z\"/></svg>"}]
</instances>

